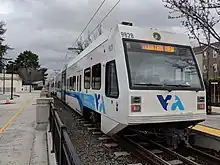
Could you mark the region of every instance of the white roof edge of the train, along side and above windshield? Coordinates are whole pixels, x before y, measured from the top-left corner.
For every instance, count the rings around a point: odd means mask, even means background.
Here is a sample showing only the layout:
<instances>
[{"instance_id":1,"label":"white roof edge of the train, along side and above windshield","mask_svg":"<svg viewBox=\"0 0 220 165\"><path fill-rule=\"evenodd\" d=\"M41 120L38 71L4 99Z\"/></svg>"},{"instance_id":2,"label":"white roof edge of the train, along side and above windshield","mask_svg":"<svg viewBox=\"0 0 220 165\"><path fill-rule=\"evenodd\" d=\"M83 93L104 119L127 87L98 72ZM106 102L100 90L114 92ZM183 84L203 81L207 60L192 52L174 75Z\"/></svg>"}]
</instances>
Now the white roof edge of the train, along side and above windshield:
<instances>
[{"instance_id":1,"label":"white roof edge of the train, along side and above windshield","mask_svg":"<svg viewBox=\"0 0 220 165\"><path fill-rule=\"evenodd\" d=\"M150 28L150 27L141 28L141 27L118 24L115 27L115 29L111 31L110 34L103 33L96 40L94 40L86 49L84 49L79 55L77 55L74 59L72 59L66 67L69 68L74 63L76 63L78 60L85 57L89 52L93 51L96 47L106 42L108 38L111 37L113 34L121 34L123 32L133 33L134 40L170 43L170 44L187 45L187 46L190 45L188 36L183 33L168 32L168 31L158 30L158 29ZM161 36L160 41L155 39L153 35L154 33L160 34ZM65 70L65 67L63 68L63 70Z\"/></svg>"}]
</instances>

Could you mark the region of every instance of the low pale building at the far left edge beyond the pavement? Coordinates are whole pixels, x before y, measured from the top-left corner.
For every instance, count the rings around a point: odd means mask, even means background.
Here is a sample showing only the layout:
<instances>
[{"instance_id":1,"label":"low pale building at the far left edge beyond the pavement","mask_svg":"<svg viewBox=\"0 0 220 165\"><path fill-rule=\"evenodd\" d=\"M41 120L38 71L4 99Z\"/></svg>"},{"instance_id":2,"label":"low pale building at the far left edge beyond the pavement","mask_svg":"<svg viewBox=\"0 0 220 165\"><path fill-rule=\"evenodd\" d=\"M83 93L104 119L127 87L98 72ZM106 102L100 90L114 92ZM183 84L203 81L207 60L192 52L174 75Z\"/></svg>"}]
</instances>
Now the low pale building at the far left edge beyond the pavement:
<instances>
[{"instance_id":1,"label":"low pale building at the far left edge beyond the pavement","mask_svg":"<svg viewBox=\"0 0 220 165\"><path fill-rule=\"evenodd\" d=\"M3 93L3 86L4 86L4 79L5 79L5 93L11 92L11 74L4 74L0 73L0 94ZM13 75L13 91L21 92L22 91L22 79L18 74Z\"/></svg>"}]
</instances>

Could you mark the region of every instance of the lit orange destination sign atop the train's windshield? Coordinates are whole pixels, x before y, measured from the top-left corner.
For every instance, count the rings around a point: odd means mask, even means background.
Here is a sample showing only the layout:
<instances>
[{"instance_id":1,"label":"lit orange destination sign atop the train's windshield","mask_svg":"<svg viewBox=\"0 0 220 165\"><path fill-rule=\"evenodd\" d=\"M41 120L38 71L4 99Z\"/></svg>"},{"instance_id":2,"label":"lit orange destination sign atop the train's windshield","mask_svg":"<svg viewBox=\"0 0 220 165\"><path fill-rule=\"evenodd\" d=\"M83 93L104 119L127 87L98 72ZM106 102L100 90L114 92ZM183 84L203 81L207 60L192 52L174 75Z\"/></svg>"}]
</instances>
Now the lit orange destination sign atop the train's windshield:
<instances>
[{"instance_id":1,"label":"lit orange destination sign atop the train's windshield","mask_svg":"<svg viewBox=\"0 0 220 165\"><path fill-rule=\"evenodd\" d=\"M155 45L155 44L141 44L141 47L144 50L170 52L170 53L175 52L175 49L173 46Z\"/></svg>"}]
</instances>

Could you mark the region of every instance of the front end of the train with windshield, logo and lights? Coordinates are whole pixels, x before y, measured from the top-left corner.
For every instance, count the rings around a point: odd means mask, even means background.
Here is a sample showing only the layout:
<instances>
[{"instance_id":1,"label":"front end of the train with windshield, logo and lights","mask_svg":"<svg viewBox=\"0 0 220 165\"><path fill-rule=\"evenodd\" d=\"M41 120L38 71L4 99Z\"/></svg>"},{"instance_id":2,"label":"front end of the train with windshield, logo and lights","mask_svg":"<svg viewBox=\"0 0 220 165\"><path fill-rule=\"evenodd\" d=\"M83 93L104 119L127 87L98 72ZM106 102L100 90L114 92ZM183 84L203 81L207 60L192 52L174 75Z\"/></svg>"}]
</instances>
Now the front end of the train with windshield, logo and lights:
<instances>
[{"instance_id":1,"label":"front end of the train with windshield, logo and lights","mask_svg":"<svg viewBox=\"0 0 220 165\"><path fill-rule=\"evenodd\" d=\"M133 36L121 33L129 89L127 124L187 128L204 121L206 92L188 38L123 28Z\"/></svg>"}]
</instances>

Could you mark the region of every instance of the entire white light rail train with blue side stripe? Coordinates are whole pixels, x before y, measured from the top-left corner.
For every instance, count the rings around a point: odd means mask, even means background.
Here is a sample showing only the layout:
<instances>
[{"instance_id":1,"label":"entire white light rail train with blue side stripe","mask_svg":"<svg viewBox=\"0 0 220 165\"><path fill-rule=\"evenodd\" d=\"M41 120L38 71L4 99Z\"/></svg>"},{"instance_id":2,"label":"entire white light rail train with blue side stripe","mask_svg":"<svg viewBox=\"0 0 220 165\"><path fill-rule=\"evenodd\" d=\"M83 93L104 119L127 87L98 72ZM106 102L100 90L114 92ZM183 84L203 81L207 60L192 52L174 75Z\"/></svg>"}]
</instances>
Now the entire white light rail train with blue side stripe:
<instances>
[{"instance_id":1,"label":"entire white light rail train with blue side stripe","mask_svg":"<svg viewBox=\"0 0 220 165\"><path fill-rule=\"evenodd\" d=\"M129 125L196 124L206 118L206 94L189 45L183 34L119 24L69 62L57 96L63 91L80 114L99 113L110 135Z\"/></svg>"}]
</instances>

